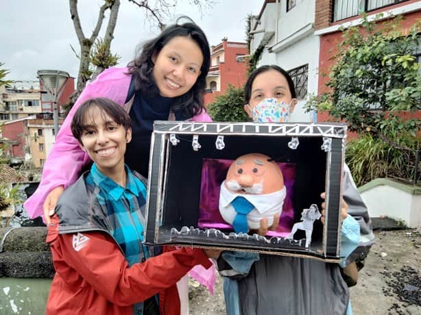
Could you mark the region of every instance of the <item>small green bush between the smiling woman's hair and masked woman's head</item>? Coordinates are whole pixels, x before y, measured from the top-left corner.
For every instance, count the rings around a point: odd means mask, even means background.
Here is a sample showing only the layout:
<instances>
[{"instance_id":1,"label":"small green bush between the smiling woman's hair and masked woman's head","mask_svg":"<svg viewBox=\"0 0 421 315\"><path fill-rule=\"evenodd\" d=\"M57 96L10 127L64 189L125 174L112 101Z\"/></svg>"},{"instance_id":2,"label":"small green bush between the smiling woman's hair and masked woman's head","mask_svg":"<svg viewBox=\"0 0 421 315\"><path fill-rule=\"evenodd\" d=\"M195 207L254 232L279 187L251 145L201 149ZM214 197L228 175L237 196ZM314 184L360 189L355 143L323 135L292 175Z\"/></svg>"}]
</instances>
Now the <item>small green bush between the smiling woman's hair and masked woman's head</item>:
<instances>
[{"instance_id":1,"label":"small green bush between the smiling woman's hair and masked woman's head","mask_svg":"<svg viewBox=\"0 0 421 315\"><path fill-rule=\"evenodd\" d=\"M208 105L208 113L214 121L248 121L244 110L244 90L229 85L223 95L218 95Z\"/></svg>"}]
</instances>

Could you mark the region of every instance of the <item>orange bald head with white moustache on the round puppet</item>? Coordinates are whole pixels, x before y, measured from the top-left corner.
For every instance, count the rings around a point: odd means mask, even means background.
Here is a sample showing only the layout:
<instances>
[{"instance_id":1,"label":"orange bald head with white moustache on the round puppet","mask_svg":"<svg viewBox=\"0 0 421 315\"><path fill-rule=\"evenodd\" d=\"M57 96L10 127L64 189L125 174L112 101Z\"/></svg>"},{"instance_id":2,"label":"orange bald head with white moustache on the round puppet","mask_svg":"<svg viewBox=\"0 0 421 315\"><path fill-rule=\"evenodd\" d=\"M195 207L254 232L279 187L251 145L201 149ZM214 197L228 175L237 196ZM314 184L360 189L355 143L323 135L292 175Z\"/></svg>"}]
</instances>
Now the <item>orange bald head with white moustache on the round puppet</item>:
<instances>
[{"instance_id":1,"label":"orange bald head with white moustache on the round puppet","mask_svg":"<svg viewBox=\"0 0 421 315\"><path fill-rule=\"evenodd\" d=\"M276 162L260 153L242 155L228 168L225 186L240 194L269 194L284 187L284 178Z\"/></svg>"}]
</instances>

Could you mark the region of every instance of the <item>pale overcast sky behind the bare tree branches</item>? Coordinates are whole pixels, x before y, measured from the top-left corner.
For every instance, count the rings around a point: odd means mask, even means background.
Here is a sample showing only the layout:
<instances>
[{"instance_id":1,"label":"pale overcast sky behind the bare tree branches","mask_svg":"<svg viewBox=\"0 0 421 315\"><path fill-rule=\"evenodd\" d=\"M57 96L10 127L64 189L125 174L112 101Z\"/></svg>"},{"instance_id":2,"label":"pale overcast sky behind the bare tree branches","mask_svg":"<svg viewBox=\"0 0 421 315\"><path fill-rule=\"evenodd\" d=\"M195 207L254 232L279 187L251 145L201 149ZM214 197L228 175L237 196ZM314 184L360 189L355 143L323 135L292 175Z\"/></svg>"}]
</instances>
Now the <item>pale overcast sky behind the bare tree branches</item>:
<instances>
[{"instance_id":1,"label":"pale overcast sky behind the bare tree branches","mask_svg":"<svg viewBox=\"0 0 421 315\"><path fill-rule=\"evenodd\" d=\"M153 1L153 0L152 0ZM204 0L206 1L206 0ZM0 62L10 70L7 79L36 79L38 69L67 71L77 77L78 60L71 51L79 43L70 18L68 0L0 0ZM78 8L86 37L91 36L101 0L79 0ZM178 0L173 14L191 16L217 45L225 36L245 41L245 20L258 14L263 0L215 0L213 8L200 14L189 0ZM106 18L106 23L108 19ZM171 18L167 23L171 22ZM103 26L103 29L106 25ZM158 28L145 21L145 11L128 0L121 0L112 41L112 52L121 56L125 66L134 56L136 45L156 36Z\"/></svg>"}]
</instances>

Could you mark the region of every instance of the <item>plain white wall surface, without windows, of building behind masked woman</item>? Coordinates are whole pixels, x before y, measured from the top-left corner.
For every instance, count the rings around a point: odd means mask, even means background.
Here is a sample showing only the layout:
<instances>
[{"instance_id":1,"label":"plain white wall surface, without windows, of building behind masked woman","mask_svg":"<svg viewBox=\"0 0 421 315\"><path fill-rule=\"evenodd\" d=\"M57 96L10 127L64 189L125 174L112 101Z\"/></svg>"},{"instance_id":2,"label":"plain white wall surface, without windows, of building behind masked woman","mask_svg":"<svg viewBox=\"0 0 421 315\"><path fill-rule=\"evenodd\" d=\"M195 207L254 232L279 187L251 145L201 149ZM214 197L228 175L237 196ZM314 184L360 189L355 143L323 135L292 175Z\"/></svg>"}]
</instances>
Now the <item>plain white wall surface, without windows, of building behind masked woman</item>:
<instances>
[{"instance_id":1,"label":"plain white wall surface, without windows, of building behind masked woman","mask_svg":"<svg viewBox=\"0 0 421 315\"><path fill-rule=\"evenodd\" d=\"M287 1L267 3L256 29L262 25L276 25L278 14L278 31L266 43L257 66L277 64L286 71L299 66L309 65L307 97L317 94L318 66L320 55L320 38L314 34L315 0L297 0L296 6L287 12ZM272 21L271 21L272 20ZM251 42L251 53L254 53L265 35L270 31L254 34ZM264 40L263 40L264 41ZM314 121L314 113L306 113L303 105L306 99L300 99L291 121Z\"/></svg>"}]
</instances>

